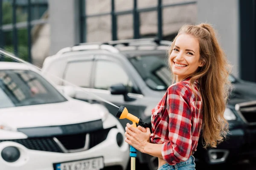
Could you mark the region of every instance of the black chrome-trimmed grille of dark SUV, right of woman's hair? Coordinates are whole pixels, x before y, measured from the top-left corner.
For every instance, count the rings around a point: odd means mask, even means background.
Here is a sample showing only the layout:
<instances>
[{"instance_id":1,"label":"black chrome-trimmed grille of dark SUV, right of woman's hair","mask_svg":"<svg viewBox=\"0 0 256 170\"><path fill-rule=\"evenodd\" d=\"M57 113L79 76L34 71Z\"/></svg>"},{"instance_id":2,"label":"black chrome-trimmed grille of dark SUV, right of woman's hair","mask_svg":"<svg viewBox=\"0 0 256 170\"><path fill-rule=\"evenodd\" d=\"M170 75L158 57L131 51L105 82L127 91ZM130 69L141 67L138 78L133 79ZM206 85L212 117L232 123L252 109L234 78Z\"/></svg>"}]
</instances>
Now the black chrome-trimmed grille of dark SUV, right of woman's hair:
<instances>
[{"instance_id":1,"label":"black chrome-trimmed grille of dark SUV, right of woman's hair","mask_svg":"<svg viewBox=\"0 0 256 170\"><path fill-rule=\"evenodd\" d=\"M249 125L256 125L256 101L236 104L236 111L241 113L241 118Z\"/></svg>"}]
</instances>

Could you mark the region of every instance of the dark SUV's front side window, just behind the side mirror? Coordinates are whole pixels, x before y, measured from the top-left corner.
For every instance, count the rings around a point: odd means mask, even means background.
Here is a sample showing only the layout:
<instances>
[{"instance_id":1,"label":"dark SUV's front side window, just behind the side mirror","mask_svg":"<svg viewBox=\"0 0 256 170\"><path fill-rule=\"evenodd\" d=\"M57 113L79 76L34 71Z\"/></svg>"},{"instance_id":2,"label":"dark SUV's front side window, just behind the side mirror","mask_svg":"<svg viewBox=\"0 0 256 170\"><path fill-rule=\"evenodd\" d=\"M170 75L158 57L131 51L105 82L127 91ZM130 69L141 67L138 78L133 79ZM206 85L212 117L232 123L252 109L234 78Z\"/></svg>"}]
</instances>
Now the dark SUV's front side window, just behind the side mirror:
<instances>
[{"instance_id":1,"label":"dark SUV's front side window, just behind the side mirror","mask_svg":"<svg viewBox=\"0 0 256 170\"><path fill-rule=\"evenodd\" d=\"M111 85L122 83L129 93L136 93L124 69L117 63L107 60L96 62L94 88L108 90Z\"/></svg>"}]
</instances>

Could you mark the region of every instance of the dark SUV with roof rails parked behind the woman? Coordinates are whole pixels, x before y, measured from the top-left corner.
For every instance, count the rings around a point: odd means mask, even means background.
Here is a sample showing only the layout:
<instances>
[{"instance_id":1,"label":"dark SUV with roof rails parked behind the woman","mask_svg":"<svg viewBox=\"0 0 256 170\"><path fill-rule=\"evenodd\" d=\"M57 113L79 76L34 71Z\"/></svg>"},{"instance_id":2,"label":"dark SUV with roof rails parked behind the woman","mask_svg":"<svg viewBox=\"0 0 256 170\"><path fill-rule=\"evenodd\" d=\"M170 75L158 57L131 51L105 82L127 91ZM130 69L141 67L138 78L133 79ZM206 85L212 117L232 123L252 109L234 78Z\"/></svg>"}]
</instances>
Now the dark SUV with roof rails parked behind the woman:
<instances>
[{"instance_id":1,"label":"dark SUV with roof rails parked behind the woman","mask_svg":"<svg viewBox=\"0 0 256 170\"><path fill-rule=\"evenodd\" d=\"M116 106L125 106L129 113L151 125L151 109L172 82L167 64L171 43L154 39L84 43L47 57L42 72L46 76L51 74L49 78L60 88L67 82L80 86L82 91L74 89L71 93L76 99L102 103L116 116L118 108L101 100L105 99ZM199 163L222 164L253 159L256 155L256 84L232 75L230 81L234 88L225 111L230 134L217 148L203 149L199 142L194 154ZM125 127L130 121L120 119L120 122ZM138 153L137 158L151 170L157 170L155 157Z\"/></svg>"}]
</instances>

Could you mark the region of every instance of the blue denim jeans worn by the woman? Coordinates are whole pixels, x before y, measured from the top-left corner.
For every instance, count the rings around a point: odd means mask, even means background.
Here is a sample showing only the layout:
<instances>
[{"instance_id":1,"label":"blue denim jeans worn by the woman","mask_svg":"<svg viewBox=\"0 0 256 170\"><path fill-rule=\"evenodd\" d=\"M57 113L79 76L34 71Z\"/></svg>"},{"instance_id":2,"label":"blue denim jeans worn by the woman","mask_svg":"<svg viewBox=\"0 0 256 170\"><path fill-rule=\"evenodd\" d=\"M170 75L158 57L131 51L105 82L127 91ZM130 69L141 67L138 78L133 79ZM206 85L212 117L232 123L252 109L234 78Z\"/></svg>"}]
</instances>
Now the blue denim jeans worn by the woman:
<instances>
[{"instance_id":1,"label":"blue denim jeans worn by the woman","mask_svg":"<svg viewBox=\"0 0 256 170\"><path fill-rule=\"evenodd\" d=\"M175 165L163 164L157 170L195 170L195 157L190 156L188 160Z\"/></svg>"}]
</instances>

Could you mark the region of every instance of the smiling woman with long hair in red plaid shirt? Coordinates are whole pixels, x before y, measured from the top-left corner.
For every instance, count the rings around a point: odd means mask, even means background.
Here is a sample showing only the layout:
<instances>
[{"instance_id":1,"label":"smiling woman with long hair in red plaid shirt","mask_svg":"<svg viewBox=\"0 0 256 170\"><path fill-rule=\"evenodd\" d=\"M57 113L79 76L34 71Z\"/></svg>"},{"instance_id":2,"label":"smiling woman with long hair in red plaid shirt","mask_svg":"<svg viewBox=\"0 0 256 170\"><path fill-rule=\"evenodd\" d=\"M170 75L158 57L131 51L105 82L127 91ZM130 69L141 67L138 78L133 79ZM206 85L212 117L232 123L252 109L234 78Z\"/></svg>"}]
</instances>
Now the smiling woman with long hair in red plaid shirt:
<instances>
[{"instance_id":1,"label":"smiling woman with long hair in red plaid shirt","mask_svg":"<svg viewBox=\"0 0 256 170\"><path fill-rule=\"evenodd\" d=\"M158 157L158 170L192 170L201 130L204 147L216 147L227 134L230 65L209 24L180 28L169 65L175 83L152 109L152 133L127 124L125 142Z\"/></svg>"}]
</instances>

